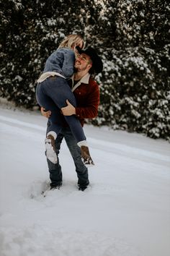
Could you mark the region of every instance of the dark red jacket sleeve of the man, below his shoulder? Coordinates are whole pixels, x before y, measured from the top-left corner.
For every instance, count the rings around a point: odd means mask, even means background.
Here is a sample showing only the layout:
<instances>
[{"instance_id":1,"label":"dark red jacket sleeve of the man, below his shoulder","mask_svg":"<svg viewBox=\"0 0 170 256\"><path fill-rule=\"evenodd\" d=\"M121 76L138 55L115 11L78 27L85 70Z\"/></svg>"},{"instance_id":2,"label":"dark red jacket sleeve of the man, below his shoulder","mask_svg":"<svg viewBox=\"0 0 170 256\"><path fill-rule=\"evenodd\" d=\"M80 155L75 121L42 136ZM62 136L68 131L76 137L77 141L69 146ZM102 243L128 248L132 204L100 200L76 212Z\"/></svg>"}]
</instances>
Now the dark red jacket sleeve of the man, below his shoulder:
<instances>
[{"instance_id":1,"label":"dark red jacket sleeve of the man, below his shoulder","mask_svg":"<svg viewBox=\"0 0 170 256\"><path fill-rule=\"evenodd\" d=\"M95 82L92 90L86 96L86 107L76 107L79 119L92 119L97 116L99 107L99 85Z\"/></svg>"}]
</instances>

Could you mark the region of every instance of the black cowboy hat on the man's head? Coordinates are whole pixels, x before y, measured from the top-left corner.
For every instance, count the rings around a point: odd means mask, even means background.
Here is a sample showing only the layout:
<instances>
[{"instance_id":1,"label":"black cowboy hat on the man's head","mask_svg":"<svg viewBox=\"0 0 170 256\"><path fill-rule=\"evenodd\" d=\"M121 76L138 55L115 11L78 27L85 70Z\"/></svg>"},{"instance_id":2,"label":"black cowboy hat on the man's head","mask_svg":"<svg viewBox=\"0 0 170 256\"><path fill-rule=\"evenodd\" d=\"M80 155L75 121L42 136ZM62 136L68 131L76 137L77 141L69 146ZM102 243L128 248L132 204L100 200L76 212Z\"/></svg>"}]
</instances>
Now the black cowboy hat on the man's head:
<instances>
[{"instance_id":1,"label":"black cowboy hat on the man's head","mask_svg":"<svg viewBox=\"0 0 170 256\"><path fill-rule=\"evenodd\" d=\"M77 51L79 51L79 54L86 54L90 57L92 61L92 67L89 70L90 73L99 74L100 72L102 72L102 59L97 55L97 52L94 50L94 48L88 47L85 50L81 50L79 46L76 46L76 49Z\"/></svg>"}]
</instances>

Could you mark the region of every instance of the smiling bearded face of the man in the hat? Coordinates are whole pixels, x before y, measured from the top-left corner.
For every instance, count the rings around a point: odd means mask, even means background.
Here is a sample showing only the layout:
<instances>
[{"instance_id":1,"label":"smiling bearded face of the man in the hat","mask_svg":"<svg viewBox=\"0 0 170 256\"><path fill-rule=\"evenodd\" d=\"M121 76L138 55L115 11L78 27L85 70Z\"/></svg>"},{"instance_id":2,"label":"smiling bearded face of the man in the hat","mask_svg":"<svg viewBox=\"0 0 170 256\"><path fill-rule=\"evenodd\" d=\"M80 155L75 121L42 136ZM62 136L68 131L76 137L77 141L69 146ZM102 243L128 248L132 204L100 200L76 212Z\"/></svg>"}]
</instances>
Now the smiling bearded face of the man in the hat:
<instances>
[{"instance_id":1,"label":"smiling bearded face of the man in the hat","mask_svg":"<svg viewBox=\"0 0 170 256\"><path fill-rule=\"evenodd\" d=\"M92 62L88 55L80 54L79 56L77 56L75 65L74 65L77 71L87 70L88 72L91 66L92 66Z\"/></svg>"}]
</instances>

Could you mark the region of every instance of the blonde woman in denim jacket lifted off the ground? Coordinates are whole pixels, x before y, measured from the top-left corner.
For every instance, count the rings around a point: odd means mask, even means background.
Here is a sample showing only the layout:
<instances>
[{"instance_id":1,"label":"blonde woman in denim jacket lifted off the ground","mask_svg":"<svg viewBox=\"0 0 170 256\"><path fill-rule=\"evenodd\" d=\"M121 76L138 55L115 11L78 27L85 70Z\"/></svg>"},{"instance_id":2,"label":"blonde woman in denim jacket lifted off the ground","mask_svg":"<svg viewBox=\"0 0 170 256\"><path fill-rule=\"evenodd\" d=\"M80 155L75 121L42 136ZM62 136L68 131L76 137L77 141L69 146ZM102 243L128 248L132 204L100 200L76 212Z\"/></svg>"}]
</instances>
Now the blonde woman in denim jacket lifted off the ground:
<instances>
[{"instance_id":1,"label":"blonde woman in denim jacket lifted off the ground","mask_svg":"<svg viewBox=\"0 0 170 256\"><path fill-rule=\"evenodd\" d=\"M76 54L78 54L77 46L79 48L84 47L84 41L81 36L68 35L61 42L58 49L48 57L45 69L37 80L37 103L51 111L50 126L45 139L45 153L52 163L57 163L58 161L55 153L55 139L63 126L61 108L66 106L66 100L76 107L76 99L71 92L67 79L73 74L74 62ZM71 128L73 136L76 138L77 144L81 147L81 156L84 164L94 165L80 121L74 115L64 117Z\"/></svg>"}]
</instances>

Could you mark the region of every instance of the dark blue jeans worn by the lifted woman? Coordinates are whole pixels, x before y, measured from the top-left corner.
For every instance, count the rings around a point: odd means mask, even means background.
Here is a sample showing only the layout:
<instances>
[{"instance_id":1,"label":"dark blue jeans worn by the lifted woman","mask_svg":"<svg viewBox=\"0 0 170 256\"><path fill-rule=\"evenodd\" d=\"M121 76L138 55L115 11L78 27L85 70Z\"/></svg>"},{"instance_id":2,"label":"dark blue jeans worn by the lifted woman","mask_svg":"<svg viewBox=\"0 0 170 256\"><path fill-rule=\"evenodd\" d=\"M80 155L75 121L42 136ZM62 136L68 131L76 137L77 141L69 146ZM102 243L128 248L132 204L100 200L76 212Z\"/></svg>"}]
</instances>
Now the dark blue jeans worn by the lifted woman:
<instances>
[{"instance_id":1,"label":"dark blue jeans worn by the lifted woman","mask_svg":"<svg viewBox=\"0 0 170 256\"><path fill-rule=\"evenodd\" d=\"M66 100L68 99L68 101L76 107L76 98L66 79L58 76L48 77L45 81L37 85L36 98L40 106L51 111L49 132L54 131L58 135L63 127L61 108L66 106ZM75 115L64 116L64 118L71 128L71 132L76 138L76 141L80 142L86 140L79 119L77 119Z\"/></svg>"}]
</instances>

